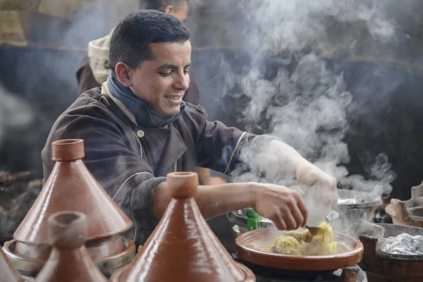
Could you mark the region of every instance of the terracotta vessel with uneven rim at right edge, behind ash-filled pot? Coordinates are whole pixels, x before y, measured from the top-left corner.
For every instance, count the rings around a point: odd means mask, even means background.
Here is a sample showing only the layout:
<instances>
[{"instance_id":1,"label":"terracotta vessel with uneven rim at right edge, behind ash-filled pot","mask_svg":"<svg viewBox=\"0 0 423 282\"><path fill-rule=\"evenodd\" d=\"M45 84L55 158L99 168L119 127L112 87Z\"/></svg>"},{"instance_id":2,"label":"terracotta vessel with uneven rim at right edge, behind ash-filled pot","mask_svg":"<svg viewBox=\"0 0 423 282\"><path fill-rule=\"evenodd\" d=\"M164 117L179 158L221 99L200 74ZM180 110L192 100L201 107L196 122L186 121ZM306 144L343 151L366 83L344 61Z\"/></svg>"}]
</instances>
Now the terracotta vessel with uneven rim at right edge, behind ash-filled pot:
<instances>
[{"instance_id":1,"label":"terracotta vessel with uneven rim at right edge, behind ash-filled pot","mask_svg":"<svg viewBox=\"0 0 423 282\"><path fill-rule=\"evenodd\" d=\"M410 200L391 199L385 211L394 224L423 227L423 182L411 188Z\"/></svg>"}]
</instances>

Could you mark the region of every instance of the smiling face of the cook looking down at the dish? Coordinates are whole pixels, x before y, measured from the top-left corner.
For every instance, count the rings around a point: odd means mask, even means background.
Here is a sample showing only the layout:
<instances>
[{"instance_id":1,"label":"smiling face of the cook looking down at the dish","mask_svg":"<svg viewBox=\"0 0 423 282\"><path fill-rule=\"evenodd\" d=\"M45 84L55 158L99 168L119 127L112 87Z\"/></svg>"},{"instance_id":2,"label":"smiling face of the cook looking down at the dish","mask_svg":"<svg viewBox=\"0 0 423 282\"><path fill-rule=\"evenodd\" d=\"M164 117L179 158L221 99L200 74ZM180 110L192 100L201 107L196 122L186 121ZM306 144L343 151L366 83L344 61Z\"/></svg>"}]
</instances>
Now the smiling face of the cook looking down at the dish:
<instances>
[{"instance_id":1,"label":"smiling face of the cook looking down at the dish","mask_svg":"<svg viewBox=\"0 0 423 282\"><path fill-rule=\"evenodd\" d=\"M154 60L143 61L131 72L135 96L163 116L179 113L180 102L190 86L191 44L152 43Z\"/></svg>"}]
</instances>

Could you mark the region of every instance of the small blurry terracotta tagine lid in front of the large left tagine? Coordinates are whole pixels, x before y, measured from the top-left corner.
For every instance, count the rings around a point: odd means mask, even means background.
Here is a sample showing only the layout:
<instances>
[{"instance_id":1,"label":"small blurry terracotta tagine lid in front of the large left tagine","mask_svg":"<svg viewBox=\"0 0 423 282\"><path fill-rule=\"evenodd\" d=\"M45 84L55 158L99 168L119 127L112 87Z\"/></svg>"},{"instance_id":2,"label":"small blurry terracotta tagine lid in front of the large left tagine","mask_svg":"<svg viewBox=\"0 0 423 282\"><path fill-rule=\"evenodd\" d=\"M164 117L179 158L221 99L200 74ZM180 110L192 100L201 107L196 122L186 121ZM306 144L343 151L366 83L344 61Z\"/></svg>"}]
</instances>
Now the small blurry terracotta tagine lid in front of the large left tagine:
<instances>
[{"instance_id":1,"label":"small blurry terracotta tagine lid in front of the large left tagine","mask_svg":"<svg viewBox=\"0 0 423 282\"><path fill-rule=\"evenodd\" d=\"M106 282L107 278L85 248L87 216L81 212L56 212L49 217L49 259L37 282Z\"/></svg>"}]
</instances>

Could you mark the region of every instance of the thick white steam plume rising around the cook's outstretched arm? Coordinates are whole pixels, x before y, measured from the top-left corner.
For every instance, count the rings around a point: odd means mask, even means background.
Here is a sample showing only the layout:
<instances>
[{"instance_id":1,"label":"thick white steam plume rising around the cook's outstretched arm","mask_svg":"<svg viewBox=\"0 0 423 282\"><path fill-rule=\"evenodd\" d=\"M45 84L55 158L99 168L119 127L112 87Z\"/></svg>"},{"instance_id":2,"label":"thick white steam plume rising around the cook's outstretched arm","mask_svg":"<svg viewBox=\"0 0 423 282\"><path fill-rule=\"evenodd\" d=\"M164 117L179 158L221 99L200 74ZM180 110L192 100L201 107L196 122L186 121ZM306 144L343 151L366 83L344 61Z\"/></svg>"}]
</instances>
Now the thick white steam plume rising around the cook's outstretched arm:
<instances>
[{"instance_id":1,"label":"thick white steam plume rising around the cook's outstretched arm","mask_svg":"<svg viewBox=\"0 0 423 282\"><path fill-rule=\"evenodd\" d=\"M223 4L222 4L223 5ZM336 177L341 188L375 195L389 194L396 174L383 152L367 163L368 179L350 176L345 135L358 105L348 91L342 71L328 64L341 49L354 50L362 35L384 44L395 42L396 27L384 16L378 1L241 1L245 13L245 46L252 63L245 73L228 72L233 97L246 100L238 110L247 130L278 137L322 170ZM347 49L347 50L345 50ZM228 71L228 63L221 63ZM273 71L270 71L271 68ZM293 178L278 178L281 168L245 148L235 181L258 181L295 186Z\"/></svg>"}]
</instances>

